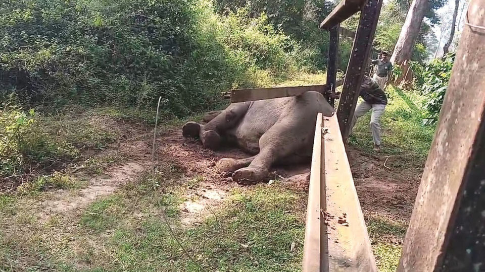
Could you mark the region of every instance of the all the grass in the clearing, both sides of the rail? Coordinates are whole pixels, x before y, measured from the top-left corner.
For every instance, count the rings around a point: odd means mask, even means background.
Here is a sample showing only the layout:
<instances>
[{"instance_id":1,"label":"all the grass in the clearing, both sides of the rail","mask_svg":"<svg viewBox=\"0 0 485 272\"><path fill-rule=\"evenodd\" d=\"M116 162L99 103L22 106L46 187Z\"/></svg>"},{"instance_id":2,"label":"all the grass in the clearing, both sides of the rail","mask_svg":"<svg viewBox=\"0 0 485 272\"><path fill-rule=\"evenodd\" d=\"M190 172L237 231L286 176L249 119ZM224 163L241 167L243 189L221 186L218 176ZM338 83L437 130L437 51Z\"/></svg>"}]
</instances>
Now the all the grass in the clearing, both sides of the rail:
<instances>
[{"instance_id":1,"label":"all the grass in the clearing, both sides of the rail","mask_svg":"<svg viewBox=\"0 0 485 272\"><path fill-rule=\"evenodd\" d=\"M324 80L324 75L300 75L282 85L318 84ZM424 158L432 129L420 125L419 96L392 88L387 91L391 99L382 122L383 153ZM114 109L98 110L94 115L100 112L123 119L150 120L147 116L152 116L148 113L133 117ZM351 143L370 151L369 116L362 119ZM93 158L87 164L88 173L102 174L116 160L119 158L112 155ZM49 186L0 196L0 271L199 271L170 235L161 209L167 211L181 243L207 271L300 270L304 193L279 182L233 189L222 209L211 211L212 216L202 225L184 229L178 205L185 200L187 187L197 184L198 179L184 177L174 169L164 166L155 175L145 171L135 182L96 200L80 213L58 215L47 222L33 216L31 206L49 198ZM66 176L67 181L61 179L64 183L60 187L78 192L82 180ZM367 225L379 268L394 270L401 246L393 240L402 240L406 224L372 217Z\"/></svg>"}]
</instances>

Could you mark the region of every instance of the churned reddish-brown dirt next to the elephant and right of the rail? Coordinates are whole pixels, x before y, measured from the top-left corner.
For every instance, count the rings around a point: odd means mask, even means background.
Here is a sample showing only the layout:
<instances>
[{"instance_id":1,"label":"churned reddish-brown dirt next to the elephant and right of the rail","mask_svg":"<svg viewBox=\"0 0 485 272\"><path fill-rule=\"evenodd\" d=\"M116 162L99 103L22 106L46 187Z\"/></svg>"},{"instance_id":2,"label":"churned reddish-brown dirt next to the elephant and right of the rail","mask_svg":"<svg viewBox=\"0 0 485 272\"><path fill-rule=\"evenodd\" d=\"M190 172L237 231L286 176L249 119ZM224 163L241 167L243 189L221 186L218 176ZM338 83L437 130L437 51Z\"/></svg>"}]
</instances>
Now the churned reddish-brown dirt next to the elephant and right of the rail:
<instances>
[{"instance_id":1,"label":"churned reddish-brown dirt next to the elephant and right of the rail","mask_svg":"<svg viewBox=\"0 0 485 272\"><path fill-rule=\"evenodd\" d=\"M220 151L210 151L194 140L184 139L179 128L172 128L161 134L159 158L169 160L183 166L186 175L200 175L208 190L203 194L213 194L205 197L204 206L214 207L215 202L223 198L224 191L235 184L215 169L216 162L221 158L244 158L248 156L237 148L226 147ZM347 154L354 176L357 193L365 215L384 215L397 220L408 221L411 217L414 199L419 187L422 165L415 162L402 164L400 156L385 156L368 154L349 146ZM384 165L385 163L385 165ZM275 167L274 179L281 179L296 190L308 190L310 162L292 167ZM209 185L209 187L207 186ZM217 191L217 192L214 192ZM198 192L200 193L200 192ZM214 201L210 201L214 200ZM187 203L187 206L193 203ZM185 212L203 210L185 209Z\"/></svg>"}]
</instances>

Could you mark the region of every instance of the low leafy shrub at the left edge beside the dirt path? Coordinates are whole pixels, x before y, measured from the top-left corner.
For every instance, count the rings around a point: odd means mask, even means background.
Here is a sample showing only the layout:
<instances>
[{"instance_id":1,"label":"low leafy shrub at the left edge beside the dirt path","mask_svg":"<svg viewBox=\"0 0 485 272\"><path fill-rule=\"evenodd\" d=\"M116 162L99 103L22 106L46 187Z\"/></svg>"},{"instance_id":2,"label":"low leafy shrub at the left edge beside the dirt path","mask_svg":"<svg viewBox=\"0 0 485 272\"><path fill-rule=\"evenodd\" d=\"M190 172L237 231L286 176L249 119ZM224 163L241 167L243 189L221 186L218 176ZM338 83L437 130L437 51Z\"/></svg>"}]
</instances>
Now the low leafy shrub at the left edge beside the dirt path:
<instances>
[{"instance_id":1,"label":"low leafy shrub at the left edge beside the dirt path","mask_svg":"<svg viewBox=\"0 0 485 272\"><path fill-rule=\"evenodd\" d=\"M0 178L56 168L81 150L102 148L115 139L84 116L42 116L12 104L0 106L0 112Z\"/></svg>"}]
</instances>

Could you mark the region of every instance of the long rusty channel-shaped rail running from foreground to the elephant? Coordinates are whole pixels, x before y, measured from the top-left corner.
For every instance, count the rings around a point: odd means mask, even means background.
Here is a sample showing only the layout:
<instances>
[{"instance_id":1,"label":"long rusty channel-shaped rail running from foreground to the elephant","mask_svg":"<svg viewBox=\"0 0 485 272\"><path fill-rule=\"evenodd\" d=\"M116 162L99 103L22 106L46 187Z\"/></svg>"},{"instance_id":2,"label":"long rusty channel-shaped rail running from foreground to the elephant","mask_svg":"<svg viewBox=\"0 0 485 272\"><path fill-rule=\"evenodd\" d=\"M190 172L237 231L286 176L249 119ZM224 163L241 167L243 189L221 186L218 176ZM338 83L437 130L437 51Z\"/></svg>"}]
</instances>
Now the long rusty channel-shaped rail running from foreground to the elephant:
<instances>
[{"instance_id":1,"label":"long rusty channel-shaped rail running from foreground to the elephant","mask_svg":"<svg viewBox=\"0 0 485 272\"><path fill-rule=\"evenodd\" d=\"M377 271L336 116L319 113L307 206L303 272Z\"/></svg>"}]
</instances>

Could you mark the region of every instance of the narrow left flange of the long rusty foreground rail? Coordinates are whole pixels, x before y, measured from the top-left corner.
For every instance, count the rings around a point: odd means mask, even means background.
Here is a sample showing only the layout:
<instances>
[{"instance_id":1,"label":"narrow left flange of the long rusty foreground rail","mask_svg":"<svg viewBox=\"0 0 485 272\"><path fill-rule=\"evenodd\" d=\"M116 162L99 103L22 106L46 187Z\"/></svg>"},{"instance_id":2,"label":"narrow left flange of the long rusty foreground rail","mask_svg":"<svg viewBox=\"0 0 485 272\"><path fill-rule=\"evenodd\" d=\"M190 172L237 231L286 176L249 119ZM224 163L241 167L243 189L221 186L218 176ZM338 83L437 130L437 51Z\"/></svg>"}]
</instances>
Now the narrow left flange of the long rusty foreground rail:
<instances>
[{"instance_id":1,"label":"narrow left flange of the long rusty foreground rail","mask_svg":"<svg viewBox=\"0 0 485 272\"><path fill-rule=\"evenodd\" d=\"M305 243L303 245L303 272L328 271L328 262L323 262L323 253L327 252L325 240L325 225L322 224L321 209L325 203L322 195L322 114L318 113L313 142L312 167L310 185L308 188L307 219L305 227Z\"/></svg>"}]
</instances>

